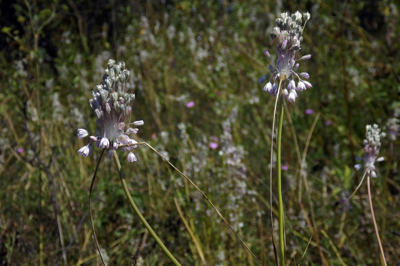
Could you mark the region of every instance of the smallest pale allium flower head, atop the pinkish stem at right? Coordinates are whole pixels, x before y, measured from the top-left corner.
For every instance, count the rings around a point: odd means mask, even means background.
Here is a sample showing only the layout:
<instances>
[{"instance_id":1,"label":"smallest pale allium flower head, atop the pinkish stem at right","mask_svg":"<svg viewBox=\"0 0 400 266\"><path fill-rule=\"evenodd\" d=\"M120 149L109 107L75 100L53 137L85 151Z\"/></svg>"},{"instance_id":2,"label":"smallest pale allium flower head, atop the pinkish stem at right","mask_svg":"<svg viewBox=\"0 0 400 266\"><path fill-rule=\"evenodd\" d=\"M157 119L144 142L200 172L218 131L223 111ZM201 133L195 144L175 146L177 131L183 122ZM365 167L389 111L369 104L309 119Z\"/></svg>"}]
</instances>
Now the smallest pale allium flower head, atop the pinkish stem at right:
<instances>
[{"instance_id":1,"label":"smallest pale allium flower head, atop the pinkish stem at right","mask_svg":"<svg viewBox=\"0 0 400 266\"><path fill-rule=\"evenodd\" d=\"M376 177L375 173L375 162L381 162L384 160L383 157L378 158L379 149L380 149L380 140L386 137L386 133L381 132L378 125L374 124L373 126L366 126L366 134L364 139L364 166L368 169L368 174L370 177ZM378 159L377 159L378 158ZM356 169L360 169L362 164L357 164L354 167Z\"/></svg>"}]
</instances>

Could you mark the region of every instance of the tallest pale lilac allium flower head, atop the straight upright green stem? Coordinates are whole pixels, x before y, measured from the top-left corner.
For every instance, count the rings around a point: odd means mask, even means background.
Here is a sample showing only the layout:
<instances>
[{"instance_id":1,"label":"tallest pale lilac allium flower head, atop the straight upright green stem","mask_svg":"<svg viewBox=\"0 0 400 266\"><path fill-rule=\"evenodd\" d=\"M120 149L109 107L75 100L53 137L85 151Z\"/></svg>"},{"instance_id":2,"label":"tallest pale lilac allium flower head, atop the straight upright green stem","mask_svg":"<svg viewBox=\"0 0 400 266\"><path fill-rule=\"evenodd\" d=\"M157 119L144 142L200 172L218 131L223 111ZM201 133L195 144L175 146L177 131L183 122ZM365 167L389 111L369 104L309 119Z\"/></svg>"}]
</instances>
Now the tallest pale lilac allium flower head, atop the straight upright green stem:
<instances>
[{"instance_id":1,"label":"tallest pale lilac allium flower head, atop the straight upright green stem","mask_svg":"<svg viewBox=\"0 0 400 266\"><path fill-rule=\"evenodd\" d=\"M277 18L275 23L276 27L271 33L271 43L278 55L276 64L271 60L270 53L265 50L264 55L271 61L269 69L270 72L258 79L258 83L262 84L266 81L268 75L271 73L270 80L264 86L264 91L267 91L270 95L276 96L278 94L277 81L282 81L283 96L287 101L294 102L297 97L297 91L303 91L307 88L312 87L311 83L302 80L299 75L305 79L308 79L310 75L306 72L296 73L300 66L296 61L307 60L311 58L308 54L302 58L296 60L297 52L300 50L300 43L303 40L302 34L306 22L310 19L310 13L304 13L296 11L291 16L288 13L280 14L280 18ZM304 18L305 22L303 25ZM298 82L294 81L297 77ZM287 85L286 85L287 83Z\"/></svg>"}]
</instances>

